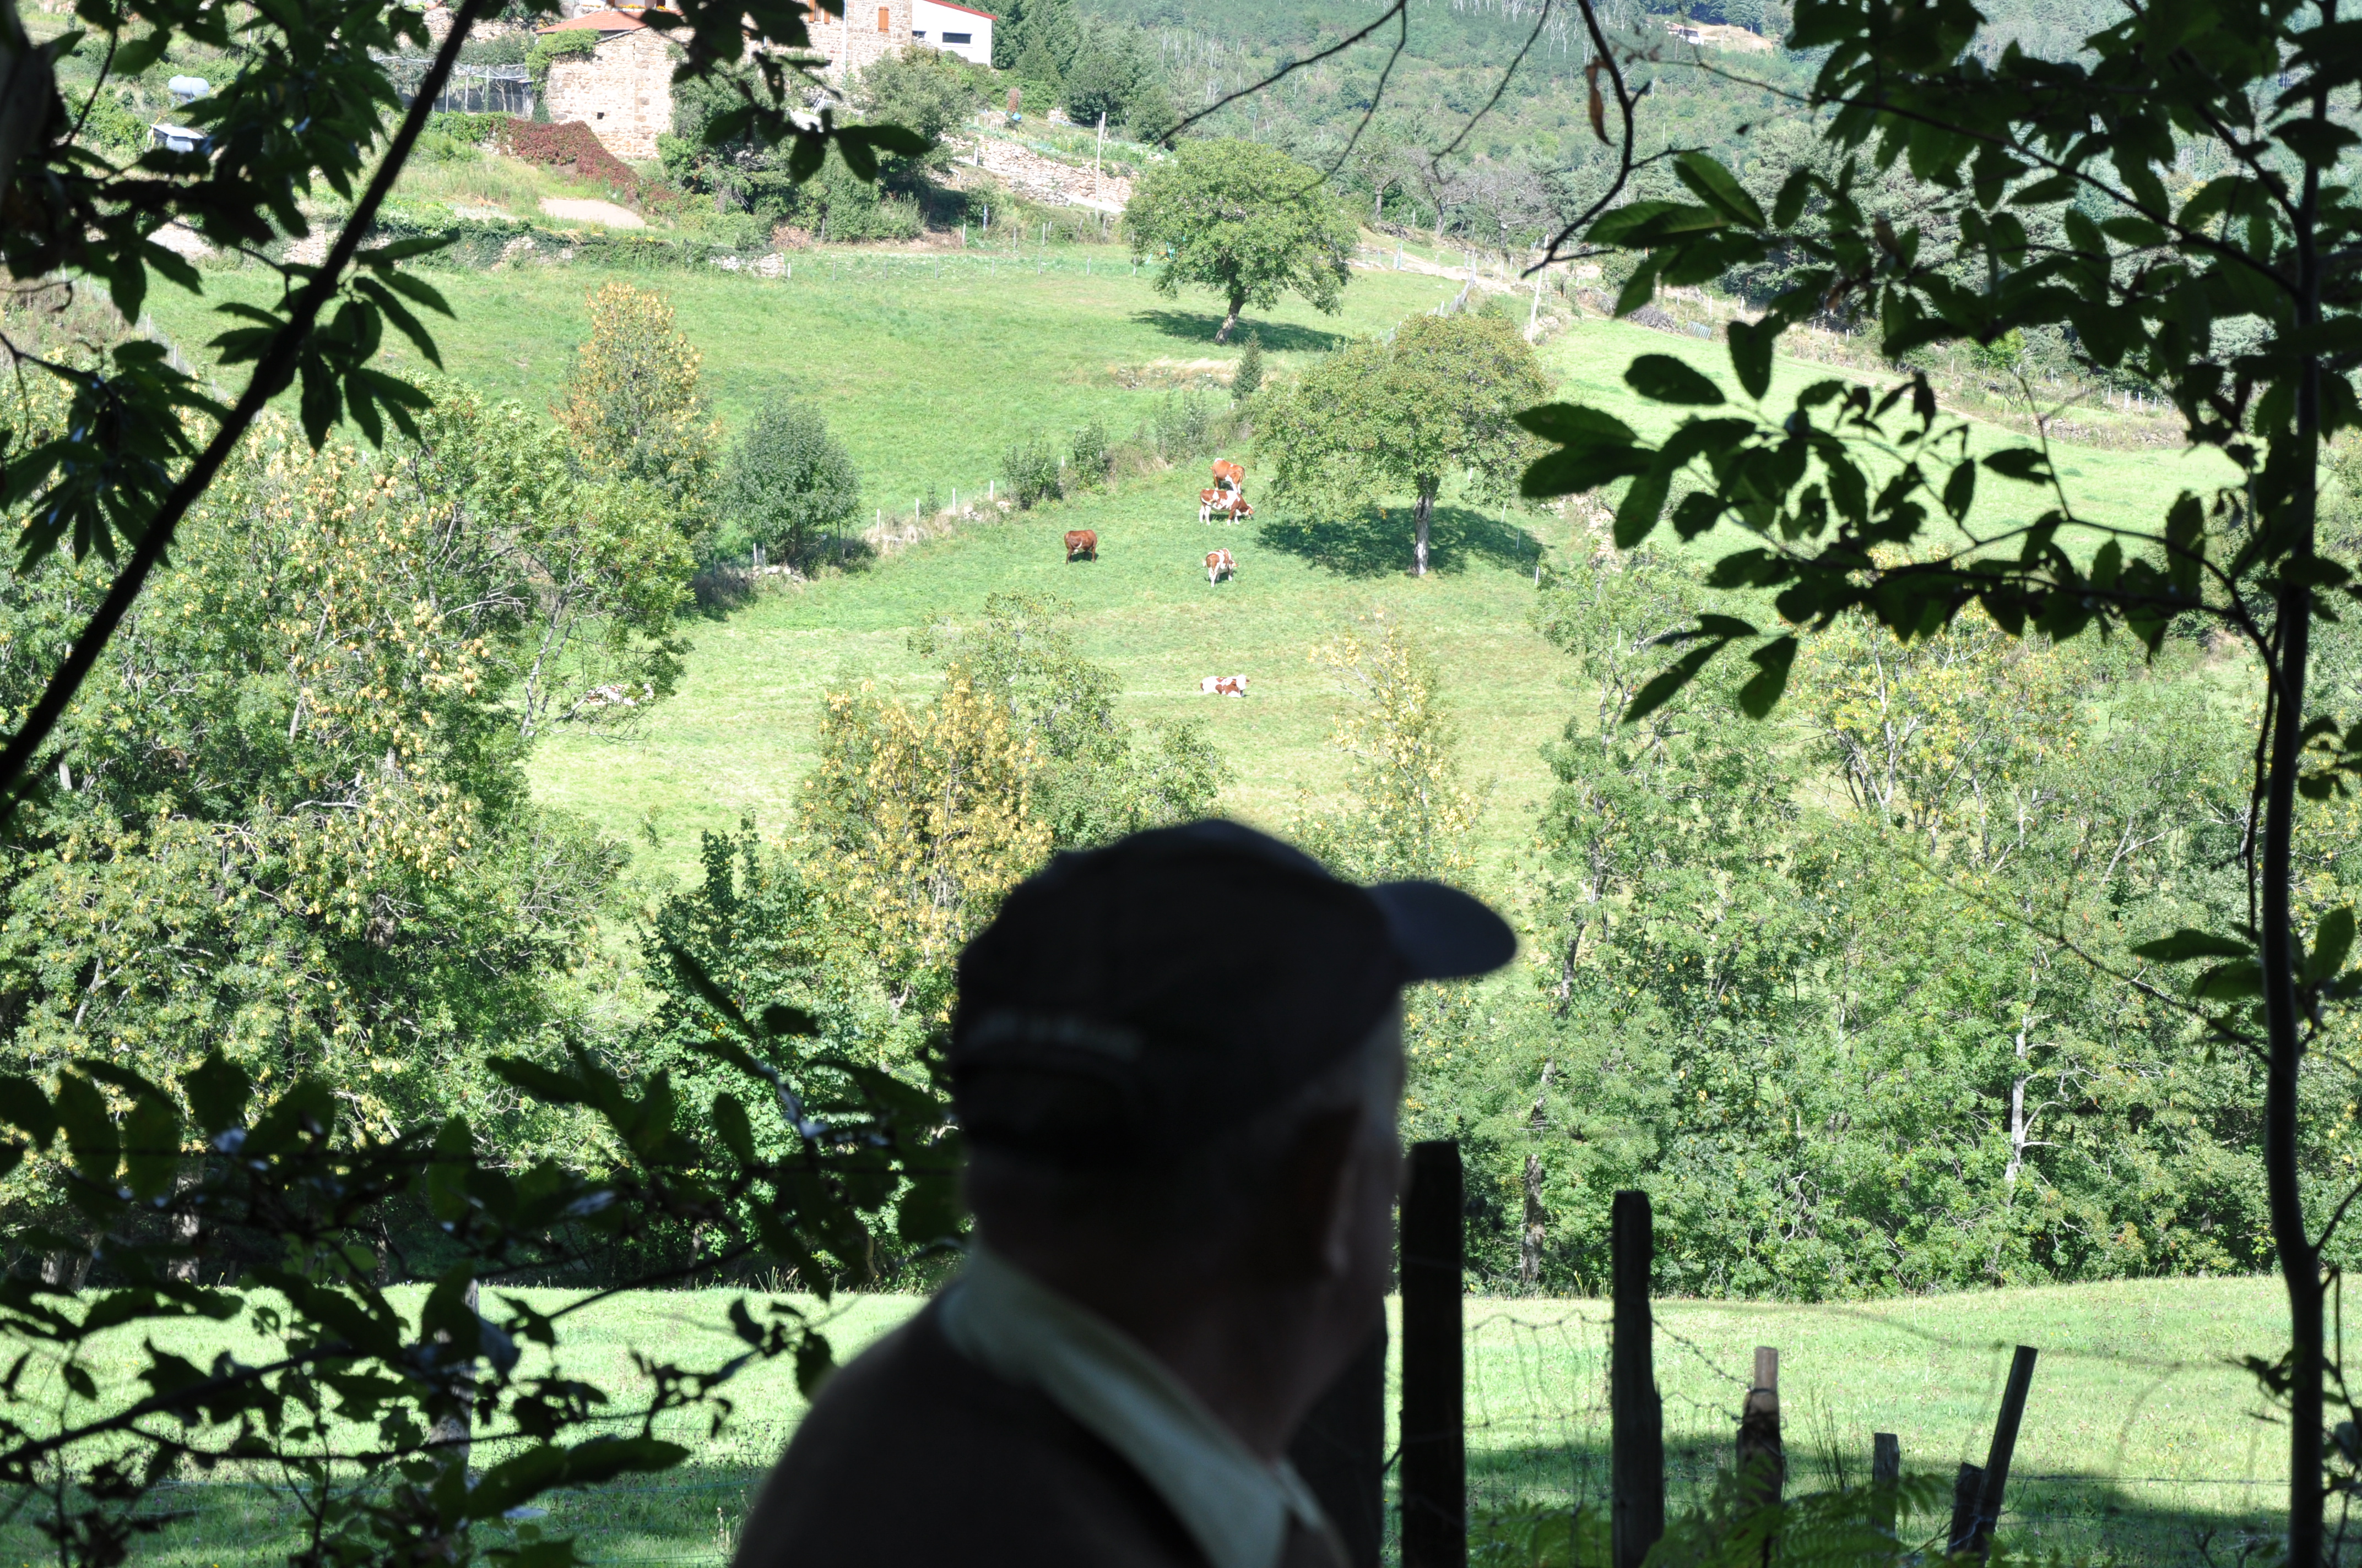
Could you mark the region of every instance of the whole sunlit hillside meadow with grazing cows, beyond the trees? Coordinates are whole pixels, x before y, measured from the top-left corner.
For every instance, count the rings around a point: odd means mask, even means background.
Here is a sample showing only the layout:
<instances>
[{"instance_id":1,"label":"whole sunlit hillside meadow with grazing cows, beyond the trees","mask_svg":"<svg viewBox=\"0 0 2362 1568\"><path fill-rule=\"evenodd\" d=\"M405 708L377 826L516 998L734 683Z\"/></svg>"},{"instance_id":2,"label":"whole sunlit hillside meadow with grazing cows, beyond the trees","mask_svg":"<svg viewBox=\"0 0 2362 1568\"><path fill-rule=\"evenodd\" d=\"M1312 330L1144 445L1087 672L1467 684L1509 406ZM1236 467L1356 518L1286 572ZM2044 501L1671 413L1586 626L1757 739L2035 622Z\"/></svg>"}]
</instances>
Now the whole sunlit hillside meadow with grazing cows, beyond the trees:
<instances>
[{"instance_id":1,"label":"whole sunlit hillside meadow with grazing cows, beyond the trees","mask_svg":"<svg viewBox=\"0 0 2362 1568\"><path fill-rule=\"evenodd\" d=\"M1212 342L1212 300L1160 298L1108 246L846 248L794 253L791 262L784 279L664 272L638 281L671 298L704 352L725 427L782 392L822 404L862 472L869 508L888 517L909 517L928 491L945 503L954 491L961 501L983 494L1018 439L1063 439L1094 418L1122 439L1176 390L1226 375L1238 354ZM458 316L437 331L446 368L487 392L548 406L586 335L586 295L612 274L496 267L430 276ZM215 298L265 286L260 272L208 272L205 281ZM1363 269L1342 314L1290 302L1249 326L1264 338L1271 373L1287 375L1346 335L1384 331L1453 293L1455 281L1431 274ZM184 345L213 331L205 309L189 295L156 295L161 331ZM1727 380L1720 342L1597 316L1552 338L1542 361L1564 397L1649 430L1675 413L1623 385L1623 366L1644 352L1677 354ZM1774 401L1831 373L1783 361ZM2119 522L2154 517L2173 489L2213 477L2204 458L2090 446L2062 449L2060 468L2081 508ZM1401 508L1382 527L1306 524L1266 508L1238 529L1202 529L1202 482L1200 468L1186 465L971 524L706 619L690 631L687 678L666 708L628 734L557 734L534 758L534 786L628 838L645 869L687 871L699 831L732 829L746 815L765 829L791 819L824 690L867 678L919 694L933 673L907 649L916 626L973 614L987 593L1030 590L1075 607L1084 652L1117 671L1134 718L1207 720L1235 775L1228 810L1285 827L1306 801L1335 791L1344 767L1327 741L1344 692L1316 671L1311 649L1386 612L1446 661L1464 772L1488 791L1481 848L1493 864L1514 855L1549 789L1538 749L1583 706L1564 661L1531 628L1535 567L1566 564L1568 553L1580 560L1590 541L1554 512L1446 508L1438 569L1412 581ZM1989 482L1986 496L1994 522L2045 505L2038 491L2001 482ZM1098 531L1096 564L1065 564L1058 541L1072 527ZM1238 581L1221 588L1202 571L1214 543L1238 557ZM1252 694L1200 699L1198 682L1216 673L1249 675Z\"/></svg>"}]
</instances>

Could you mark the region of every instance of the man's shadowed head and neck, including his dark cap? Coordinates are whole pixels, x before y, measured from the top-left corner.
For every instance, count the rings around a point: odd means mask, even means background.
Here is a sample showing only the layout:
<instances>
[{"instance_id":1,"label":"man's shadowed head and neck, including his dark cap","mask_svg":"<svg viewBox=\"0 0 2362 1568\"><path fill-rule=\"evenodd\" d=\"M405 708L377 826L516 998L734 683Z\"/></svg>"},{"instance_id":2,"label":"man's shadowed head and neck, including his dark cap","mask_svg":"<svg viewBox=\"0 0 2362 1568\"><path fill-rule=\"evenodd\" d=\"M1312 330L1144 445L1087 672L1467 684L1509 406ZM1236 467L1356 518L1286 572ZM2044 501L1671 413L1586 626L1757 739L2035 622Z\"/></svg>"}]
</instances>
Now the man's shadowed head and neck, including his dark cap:
<instances>
[{"instance_id":1,"label":"man's shadowed head and neck, including his dark cap","mask_svg":"<svg viewBox=\"0 0 2362 1568\"><path fill-rule=\"evenodd\" d=\"M1464 893L1356 888L1231 822L1061 855L959 961L985 1240L1070 1289L1285 1299L1351 1353L1391 1256L1401 989L1514 949Z\"/></svg>"}]
</instances>

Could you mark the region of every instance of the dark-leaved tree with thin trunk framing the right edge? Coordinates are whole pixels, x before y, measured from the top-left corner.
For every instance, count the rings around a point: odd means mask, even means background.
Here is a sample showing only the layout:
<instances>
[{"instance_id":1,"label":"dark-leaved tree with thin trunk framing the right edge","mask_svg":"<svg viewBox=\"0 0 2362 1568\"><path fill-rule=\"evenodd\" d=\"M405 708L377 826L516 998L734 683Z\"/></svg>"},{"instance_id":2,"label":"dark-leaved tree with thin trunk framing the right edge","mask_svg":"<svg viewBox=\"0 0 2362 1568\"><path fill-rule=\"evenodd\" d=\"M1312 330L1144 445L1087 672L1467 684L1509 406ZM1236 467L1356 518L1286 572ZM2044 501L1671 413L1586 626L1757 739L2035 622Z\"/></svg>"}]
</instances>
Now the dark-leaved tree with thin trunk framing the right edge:
<instances>
[{"instance_id":1,"label":"dark-leaved tree with thin trunk framing the right edge","mask_svg":"<svg viewBox=\"0 0 2362 1568\"><path fill-rule=\"evenodd\" d=\"M1734 527L1743 543L1710 581L1786 623L1698 616L1679 633L1689 652L1627 718L1738 645L1757 671L1738 701L1769 713L1802 633L1864 616L1920 642L1970 607L2008 635L2123 631L2149 656L2199 619L2263 668L2244 907L2140 956L2201 963L2190 1011L2268 1067L2258 1143L2291 1320L2291 1355L2268 1386L2289 1403L2289 1556L2315 1563L2334 1221L2308 1204L2303 1129L2308 1082L2345 1072L2312 1044L2350 1027L2343 1004L2362 975L2348 971L2353 914L2308 919L2298 824L2301 801L2327 803L2362 775L2362 720L2343 708L2345 687L2315 685L2312 649L2355 597L2350 550L2324 536L2319 475L2327 442L2362 423L2343 347L2362 300L2350 276L2362 208L2338 177L2357 137L2331 106L2362 73L2362 43L2329 5L2242 0L2128 9L2074 59L1996 57L1982 24L1965 0L1797 5L1790 47L1826 50L1809 97L1842 163L1800 163L1764 208L1724 163L1682 153L1682 196L1618 205L1587 234L1632 255L1623 312L1660 283L1786 257L1764 316L1729 331L1746 404L1635 361L1637 392L1710 413L1651 442L1592 409L1535 409L1528 425L1559 451L1526 489L1623 482L1623 548L1653 536L1668 508L1682 538ZM1908 168L1925 191L1911 222L1864 210L1864 165ZM2187 446L2220 453L2234 479L2185 491L2149 524L2100 524L2079 515L2043 444L1972 451L1923 373L1885 392L1819 380L1767 409L1781 333L1831 312L1875 319L1897 364L2055 331L2090 373L2164 390Z\"/></svg>"}]
</instances>

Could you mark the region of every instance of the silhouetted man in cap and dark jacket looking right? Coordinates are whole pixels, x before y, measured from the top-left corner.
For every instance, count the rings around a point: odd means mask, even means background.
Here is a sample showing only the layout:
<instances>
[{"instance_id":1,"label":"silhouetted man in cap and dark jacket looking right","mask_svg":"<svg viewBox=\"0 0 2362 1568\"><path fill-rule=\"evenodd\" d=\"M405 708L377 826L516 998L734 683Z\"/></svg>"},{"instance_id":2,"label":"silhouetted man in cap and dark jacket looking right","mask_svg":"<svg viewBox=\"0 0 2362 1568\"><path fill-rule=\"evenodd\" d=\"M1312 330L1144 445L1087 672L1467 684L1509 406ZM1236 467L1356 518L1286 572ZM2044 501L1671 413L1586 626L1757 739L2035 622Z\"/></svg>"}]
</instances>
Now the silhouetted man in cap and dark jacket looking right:
<instances>
[{"instance_id":1,"label":"silhouetted man in cap and dark jacket looking right","mask_svg":"<svg viewBox=\"0 0 2362 1568\"><path fill-rule=\"evenodd\" d=\"M1285 1452L1384 1311L1401 989L1514 947L1228 822L1011 893L952 1023L968 1263L829 1381L739 1568L1342 1568Z\"/></svg>"}]
</instances>

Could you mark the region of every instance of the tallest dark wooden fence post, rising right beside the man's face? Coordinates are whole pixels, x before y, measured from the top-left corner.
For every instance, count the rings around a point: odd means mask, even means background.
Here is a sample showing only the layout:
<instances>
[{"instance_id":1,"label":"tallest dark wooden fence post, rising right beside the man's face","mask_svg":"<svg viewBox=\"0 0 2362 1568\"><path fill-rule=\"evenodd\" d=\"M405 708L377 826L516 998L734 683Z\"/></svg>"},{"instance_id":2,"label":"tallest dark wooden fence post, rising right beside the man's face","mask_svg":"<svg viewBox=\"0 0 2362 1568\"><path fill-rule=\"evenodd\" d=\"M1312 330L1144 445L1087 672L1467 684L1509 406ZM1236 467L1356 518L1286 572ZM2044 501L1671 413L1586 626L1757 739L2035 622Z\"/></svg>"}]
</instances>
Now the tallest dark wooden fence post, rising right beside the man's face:
<instances>
[{"instance_id":1,"label":"tallest dark wooden fence post, rising right beside the man's face","mask_svg":"<svg viewBox=\"0 0 2362 1568\"><path fill-rule=\"evenodd\" d=\"M1467 1568L1460 1143L1410 1145L1403 1188L1403 1568Z\"/></svg>"}]
</instances>

